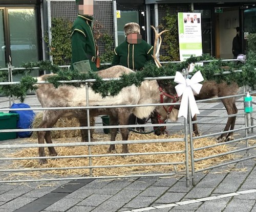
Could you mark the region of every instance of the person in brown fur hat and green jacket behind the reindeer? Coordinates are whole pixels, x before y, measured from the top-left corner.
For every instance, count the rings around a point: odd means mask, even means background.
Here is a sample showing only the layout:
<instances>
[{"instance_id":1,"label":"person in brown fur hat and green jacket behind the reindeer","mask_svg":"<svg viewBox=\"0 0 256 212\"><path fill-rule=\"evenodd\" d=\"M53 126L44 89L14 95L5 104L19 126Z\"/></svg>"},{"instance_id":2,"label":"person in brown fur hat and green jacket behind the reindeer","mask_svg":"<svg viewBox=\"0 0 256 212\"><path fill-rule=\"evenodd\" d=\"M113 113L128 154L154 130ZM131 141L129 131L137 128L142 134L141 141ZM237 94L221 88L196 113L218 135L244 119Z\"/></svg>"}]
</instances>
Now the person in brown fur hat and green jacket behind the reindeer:
<instances>
[{"instance_id":1,"label":"person in brown fur hat and green jacket behind the reindeer","mask_svg":"<svg viewBox=\"0 0 256 212\"><path fill-rule=\"evenodd\" d=\"M142 39L138 23L126 23L123 28L126 36L125 41L114 50L112 65L123 65L133 70L141 70L147 61L154 62L153 46ZM129 124L145 124L145 121L138 119L134 114L129 117ZM144 131L144 127L137 128Z\"/></svg>"}]
</instances>

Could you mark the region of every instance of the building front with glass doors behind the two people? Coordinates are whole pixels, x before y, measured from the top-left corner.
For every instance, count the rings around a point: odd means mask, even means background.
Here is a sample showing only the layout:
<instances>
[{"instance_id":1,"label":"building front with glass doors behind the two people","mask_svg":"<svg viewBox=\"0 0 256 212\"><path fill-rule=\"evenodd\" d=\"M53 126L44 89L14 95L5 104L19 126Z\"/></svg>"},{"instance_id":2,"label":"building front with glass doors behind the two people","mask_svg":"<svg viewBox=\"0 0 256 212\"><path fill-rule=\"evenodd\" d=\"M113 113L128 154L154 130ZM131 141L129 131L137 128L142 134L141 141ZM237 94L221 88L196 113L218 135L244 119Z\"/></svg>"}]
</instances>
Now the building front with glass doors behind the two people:
<instances>
[{"instance_id":1,"label":"building front with glass doors behind the two people","mask_svg":"<svg viewBox=\"0 0 256 212\"><path fill-rule=\"evenodd\" d=\"M164 26L167 13L201 13L203 53L217 58L232 58L236 27L240 27L243 53L246 53L246 36L256 32L256 7L251 0L100 0L99 4L95 18L113 37L113 48L124 40L123 26L131 21L139 23L142 37L152 44L154 35L150 26ZM75 0L2 0L0 66L49 59L50 50L44 37L51 36L51 19L62 17L73 21L76 15ZM98 44L103 52L104 43Z\"/></svg>"}]
</instances>

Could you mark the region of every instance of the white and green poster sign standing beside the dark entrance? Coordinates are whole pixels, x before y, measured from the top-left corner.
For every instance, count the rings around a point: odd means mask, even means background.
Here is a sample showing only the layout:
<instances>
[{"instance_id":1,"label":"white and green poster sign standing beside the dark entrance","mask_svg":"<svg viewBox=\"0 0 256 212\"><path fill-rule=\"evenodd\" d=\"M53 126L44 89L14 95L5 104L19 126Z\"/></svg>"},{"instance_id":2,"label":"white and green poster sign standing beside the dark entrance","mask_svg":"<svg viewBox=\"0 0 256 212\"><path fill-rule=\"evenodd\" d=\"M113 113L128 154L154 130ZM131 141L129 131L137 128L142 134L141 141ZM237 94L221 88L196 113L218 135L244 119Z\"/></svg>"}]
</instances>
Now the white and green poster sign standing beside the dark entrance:
<instances>
[{"instance_id":1,"label":"white and green poster sign standing beside the dark entrance","mask_svg":"<svg viewBox=\"0 0 256 212\"><path fill-rule=\"evenodd\" d=\"M178 13L180 60L201 56L201 13Z\"/></svg>"}]
</instances>

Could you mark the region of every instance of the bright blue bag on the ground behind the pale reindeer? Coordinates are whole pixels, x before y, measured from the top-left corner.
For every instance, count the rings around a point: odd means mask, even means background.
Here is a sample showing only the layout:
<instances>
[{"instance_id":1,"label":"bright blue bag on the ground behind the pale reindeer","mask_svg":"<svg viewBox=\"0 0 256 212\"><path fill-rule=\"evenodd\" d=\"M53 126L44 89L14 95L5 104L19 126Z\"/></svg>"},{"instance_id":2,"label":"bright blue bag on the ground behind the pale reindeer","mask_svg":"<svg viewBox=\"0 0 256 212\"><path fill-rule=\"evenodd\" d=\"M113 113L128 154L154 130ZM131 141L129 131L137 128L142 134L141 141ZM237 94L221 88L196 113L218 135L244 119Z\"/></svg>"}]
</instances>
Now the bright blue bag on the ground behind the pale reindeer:
<instances>
[{"instance_id":1,"label":"bright blue bag on the ground behind the pale reindeer","mask_svg":"<svg viewBox=\"0 0 256 212\"><path fill-rule=\"evenodd\" d=\"M11 108L30 108L29 105L25 103L12 104ZM35 113L33 110L12 110L9 113L18 113L19 120L17 121L17 129L29 129L34 121ZM17 137L30 137L32 135L31 131L28 132L17 132Z\"/></svg>"}]
</instances>

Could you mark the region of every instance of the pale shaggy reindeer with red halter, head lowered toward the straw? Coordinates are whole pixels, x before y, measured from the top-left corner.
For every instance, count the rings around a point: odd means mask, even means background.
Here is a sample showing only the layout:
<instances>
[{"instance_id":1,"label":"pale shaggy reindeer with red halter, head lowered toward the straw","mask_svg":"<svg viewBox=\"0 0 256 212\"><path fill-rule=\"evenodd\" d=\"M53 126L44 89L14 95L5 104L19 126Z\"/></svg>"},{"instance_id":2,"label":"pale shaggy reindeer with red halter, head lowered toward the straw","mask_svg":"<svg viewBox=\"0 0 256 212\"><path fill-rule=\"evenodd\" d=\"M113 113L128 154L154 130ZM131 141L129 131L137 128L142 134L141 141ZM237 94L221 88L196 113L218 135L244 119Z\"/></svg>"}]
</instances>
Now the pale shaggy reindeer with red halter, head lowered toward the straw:
<instances>
[{"instance_id":1,"label":"pale shaggy reindeer with red halter, head lowered toward the straw","mask_svg":"<svg viewBox=\"0 0 256 212\"><path fill-rule=\"evenodd\" d=\"M102 78L117 78L122 74L132 73L133 70L124 66L113 66L98 72ZM41 76L38 81L45 81L46 76ZM95 93L89 87L89 106L104 106L104 105L136 105L136 104L155 104L160 103L159 86L170 95L174 94L173 86L161 84L161 81L147 80L141 83L140 87L135 85L123 88L115 97L102 98L99 93ZM86 106L86 87L74 87L62 85L55 88L52 84L37 85L36 95L42 107L76 107ZM164 98L164 102L172 102L172 99ZM127 108L102 108L90 109L90 116L97 116L103 114L110 115L110 125L127 125L130 114L134 113L140 119L148 117L155 107L127 107ZM166 119L166 112L161 108L157 112ZM177 110L173 110L169 114L169 118L177 117ZM76 117L81 126L87 126L87 110L86 109L63 109L63 110L44 110L42 121L39 128L50 128L57 122L60 117ZM127 128L120 129L122 140L127 140L129 131ZM81 130L82 137L87 137L88 130ZM38 131L38 143L51 144L50 131ZM115 140L117 129L111 129L111 140ZM54 147L48 147L50 155L57 155ZM109 151L115 150L115 145L111 145ZM122 153L128 153L127 144L123 144ZM39 147L39 156L45 156L44 147ZM46 159L40 159L39 163L46 163Z\"/></svg>"}]
</instances>

